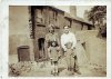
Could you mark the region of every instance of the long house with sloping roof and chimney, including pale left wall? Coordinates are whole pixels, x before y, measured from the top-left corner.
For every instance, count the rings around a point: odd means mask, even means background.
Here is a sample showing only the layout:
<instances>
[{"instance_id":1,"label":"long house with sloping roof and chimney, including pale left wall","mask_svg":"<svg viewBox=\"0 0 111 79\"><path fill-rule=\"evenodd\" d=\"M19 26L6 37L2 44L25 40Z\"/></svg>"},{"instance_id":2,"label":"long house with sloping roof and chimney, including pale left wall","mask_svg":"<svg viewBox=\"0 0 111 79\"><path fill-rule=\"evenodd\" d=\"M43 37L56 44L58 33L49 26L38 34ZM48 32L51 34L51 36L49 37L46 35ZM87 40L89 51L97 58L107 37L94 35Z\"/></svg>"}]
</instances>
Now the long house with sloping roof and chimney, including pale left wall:
<instances>
[{"instance_id":1,"label":"long house with sloping roof and chimney, including pale left wall","mask_svg":"<svg viewBox=\"0 0 111 79\"><path fill-rule=\"evenodd\" d=\"M78 41L85 50L88 47L85 38L97 34L91 30L93 29L92 23L77 17L77 8L74 6L70 6L70 13L50 6L10 6L9 56L17 55L18 47L29 46L29 57L26 58L36 61L46 60L44 37L50 23L56 26L56 31L60 34L63 26L70 26L71 31L75 33Z\"/></svg>"}]
</instances>

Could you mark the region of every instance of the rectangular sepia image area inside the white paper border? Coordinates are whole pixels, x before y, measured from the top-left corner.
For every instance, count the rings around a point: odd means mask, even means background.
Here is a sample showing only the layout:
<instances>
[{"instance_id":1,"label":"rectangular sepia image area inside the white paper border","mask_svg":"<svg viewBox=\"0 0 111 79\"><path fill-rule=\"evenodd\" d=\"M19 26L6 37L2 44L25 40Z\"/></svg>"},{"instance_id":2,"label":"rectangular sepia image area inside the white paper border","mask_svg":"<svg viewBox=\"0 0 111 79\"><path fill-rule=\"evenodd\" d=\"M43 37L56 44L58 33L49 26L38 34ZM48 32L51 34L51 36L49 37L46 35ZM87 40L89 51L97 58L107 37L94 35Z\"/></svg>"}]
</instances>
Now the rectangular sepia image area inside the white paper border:
<instances>
[{"instance_id":1,"label":"rectangular sepia image area inside the white paper border","mask_svg":"<svg viewBox=\"0 0 111 79\"><path fill-rule=\"evenodd\" d=\"M107 77L107 6L9 6L9 77Z\"/></svg>"}]
</instances>

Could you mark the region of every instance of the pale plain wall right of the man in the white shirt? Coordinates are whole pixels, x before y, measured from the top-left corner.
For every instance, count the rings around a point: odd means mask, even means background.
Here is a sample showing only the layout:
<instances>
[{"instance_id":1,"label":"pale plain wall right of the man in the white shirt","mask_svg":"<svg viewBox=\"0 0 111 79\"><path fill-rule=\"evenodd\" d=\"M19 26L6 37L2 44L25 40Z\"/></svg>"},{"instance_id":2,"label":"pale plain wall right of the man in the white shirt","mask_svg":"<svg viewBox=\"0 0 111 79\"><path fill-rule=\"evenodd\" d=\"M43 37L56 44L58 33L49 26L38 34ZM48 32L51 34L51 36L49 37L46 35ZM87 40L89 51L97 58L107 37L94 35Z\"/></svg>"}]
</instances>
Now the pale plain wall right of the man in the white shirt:
<instances>
[{"instance_id":1,"label":"pale plain wall right of the man in the white shirt","mask_svg":"<svg viewBox=\"0 0 111 79\"><path fill-rule=\"evenodd\" d=\"M77 55L80 65L84 62L95 63L99 66L107 65L107 41L97 38L98 30L77 31L78 41Z\"/></svg>"}]
</instances>

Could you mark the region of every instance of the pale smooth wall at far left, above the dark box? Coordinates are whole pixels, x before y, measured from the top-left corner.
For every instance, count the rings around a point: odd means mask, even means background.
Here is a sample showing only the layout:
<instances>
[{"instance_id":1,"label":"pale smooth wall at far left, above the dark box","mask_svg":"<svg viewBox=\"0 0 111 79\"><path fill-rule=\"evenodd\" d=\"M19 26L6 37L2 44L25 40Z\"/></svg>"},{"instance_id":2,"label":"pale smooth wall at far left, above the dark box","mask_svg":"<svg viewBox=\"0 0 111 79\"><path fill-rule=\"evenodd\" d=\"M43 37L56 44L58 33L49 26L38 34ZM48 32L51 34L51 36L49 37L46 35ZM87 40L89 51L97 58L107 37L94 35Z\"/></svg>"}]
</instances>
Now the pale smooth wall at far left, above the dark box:
<instances>
[{"instance_id":1,"label":"pale smooth wall at far left, above the dark box","mask_svg":"<svg viewBox=\"0 0 111 79\"><path fill-rule=\"evenodd\" d=\"M17 53L20 46L30 45L28 7L9 7L9 53Z\"/></svg>"}]
</instances>

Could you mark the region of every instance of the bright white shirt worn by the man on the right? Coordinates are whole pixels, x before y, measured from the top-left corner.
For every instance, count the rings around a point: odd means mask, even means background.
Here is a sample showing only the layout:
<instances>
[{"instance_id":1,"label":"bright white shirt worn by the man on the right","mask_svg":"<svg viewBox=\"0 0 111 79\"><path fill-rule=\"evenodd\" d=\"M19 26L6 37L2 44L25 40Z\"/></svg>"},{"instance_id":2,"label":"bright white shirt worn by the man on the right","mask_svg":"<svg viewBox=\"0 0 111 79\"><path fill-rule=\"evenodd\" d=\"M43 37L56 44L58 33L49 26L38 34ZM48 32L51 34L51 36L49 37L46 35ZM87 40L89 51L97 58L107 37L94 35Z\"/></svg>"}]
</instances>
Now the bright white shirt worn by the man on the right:
<instances>
[{"instance_id":1,"label":"bright white shirt worn by the man on the right","mask_svg":"<svg viewBox=\"0 0 111 79\"><path fill-rule=\"evenodd\" d=\"M75 47L75 45L77 45L77 39L75 39L74 33L69 32L69 33L63 33L63 34L61 36L61 46L62 46L62 48L63 48L64 51L67 50L65 45L67 45L68 42L71 42L71 43L72 43L71 49L73 49L73 48Z\"/></svg>"}]
</instances>

